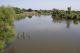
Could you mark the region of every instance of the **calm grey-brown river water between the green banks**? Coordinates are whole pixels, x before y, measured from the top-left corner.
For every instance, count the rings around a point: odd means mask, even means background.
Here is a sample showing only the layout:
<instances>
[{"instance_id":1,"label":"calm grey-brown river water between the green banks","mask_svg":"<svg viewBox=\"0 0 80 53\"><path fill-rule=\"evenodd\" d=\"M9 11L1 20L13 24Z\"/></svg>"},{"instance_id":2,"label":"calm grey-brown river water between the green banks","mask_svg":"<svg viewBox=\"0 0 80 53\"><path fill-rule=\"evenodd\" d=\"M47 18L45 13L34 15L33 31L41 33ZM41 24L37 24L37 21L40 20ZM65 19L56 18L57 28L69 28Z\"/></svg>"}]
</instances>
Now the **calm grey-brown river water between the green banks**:
<instances>
[{"instance_id":1,"label":"calm grey-brown river water between the green banks","mask_svg":"<svg viewBox=\"0 0 80 53\"><path fill-rule=\"evenodd\" d=\"M80 53L80 21L51 15L15 20L16 38L5 53Z\"/></svg>"}]
</instances>

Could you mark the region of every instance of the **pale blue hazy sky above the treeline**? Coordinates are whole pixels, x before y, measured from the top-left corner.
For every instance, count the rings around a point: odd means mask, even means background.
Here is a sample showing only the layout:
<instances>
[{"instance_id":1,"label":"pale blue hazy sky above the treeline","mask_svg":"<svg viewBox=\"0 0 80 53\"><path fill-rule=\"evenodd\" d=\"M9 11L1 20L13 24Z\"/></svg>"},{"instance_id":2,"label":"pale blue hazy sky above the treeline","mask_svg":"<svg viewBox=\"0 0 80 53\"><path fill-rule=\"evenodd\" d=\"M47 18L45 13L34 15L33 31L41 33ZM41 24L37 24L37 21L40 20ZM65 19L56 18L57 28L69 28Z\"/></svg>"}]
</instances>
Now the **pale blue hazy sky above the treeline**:
<instances>
[{"instance_id":1,"label":"pale blue hazy sky above the treeline","mask_svg":"<svg viewBox=\"0 0 80 53\"><path fill-rule=\"evenodd\" d=\"M71 7L72 10L80 10L80 0L0 0L0 6L15 6L32 9L62 9Z\"/></svg>"}]
</instances>

